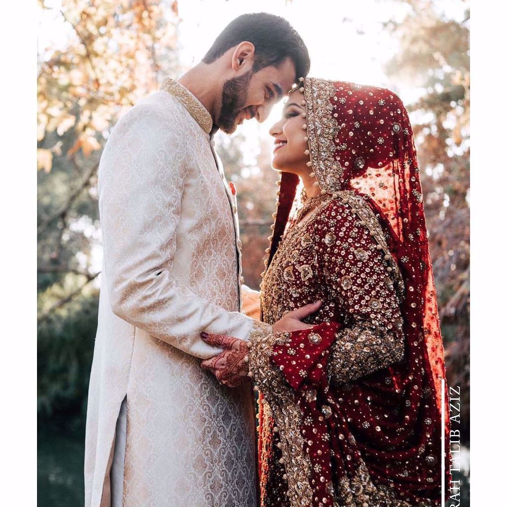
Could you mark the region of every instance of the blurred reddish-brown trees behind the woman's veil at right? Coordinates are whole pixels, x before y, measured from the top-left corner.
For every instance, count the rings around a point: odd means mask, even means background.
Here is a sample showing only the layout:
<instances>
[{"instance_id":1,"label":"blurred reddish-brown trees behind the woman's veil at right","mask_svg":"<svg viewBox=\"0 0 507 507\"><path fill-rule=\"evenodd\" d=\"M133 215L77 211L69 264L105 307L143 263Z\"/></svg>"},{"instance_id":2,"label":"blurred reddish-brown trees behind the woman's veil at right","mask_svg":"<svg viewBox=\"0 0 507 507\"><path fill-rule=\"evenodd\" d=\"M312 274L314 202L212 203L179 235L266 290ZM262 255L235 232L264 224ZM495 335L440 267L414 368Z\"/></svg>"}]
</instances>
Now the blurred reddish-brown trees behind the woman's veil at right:
<instances>
[{"instance_id":1,"label":"blurred reddish-brown trees behind the woman's veil at right","mask_svg":"<svg viewBox=\"0 0 507 507\"><path fill-rule=\"evenodd\" d=\"M385 65L397 86L423 89L408 104L421 167L426 226L446 349L447 378L461 387L461 430L469 439L470 61L469 11L462 20L439 12L442 2L399 0L412 9L385 28L400 52ZM461 2L462 5L467 4Z\"/></svg>"}]
</instances>

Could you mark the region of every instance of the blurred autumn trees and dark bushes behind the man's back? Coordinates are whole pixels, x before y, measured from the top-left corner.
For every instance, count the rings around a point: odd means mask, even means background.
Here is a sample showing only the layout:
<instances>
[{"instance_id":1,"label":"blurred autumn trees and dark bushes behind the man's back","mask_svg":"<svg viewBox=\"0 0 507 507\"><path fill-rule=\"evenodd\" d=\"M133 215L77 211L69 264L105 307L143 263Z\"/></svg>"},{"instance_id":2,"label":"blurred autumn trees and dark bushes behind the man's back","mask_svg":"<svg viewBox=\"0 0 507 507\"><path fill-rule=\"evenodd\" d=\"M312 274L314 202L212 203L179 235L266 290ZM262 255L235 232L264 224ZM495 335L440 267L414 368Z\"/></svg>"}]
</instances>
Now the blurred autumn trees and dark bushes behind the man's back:
<instances>
[{"instance_id":1,"label":"blurred autumn trees and dark bushes behind the man's back","mask_svg":"<svg viewBox=\"0 0 507 507\"><path fill-rule=\"evenodd\" d=\"M39 6L65 42L38 52L38 414L43 425L83 428L97 324L98 161L119 116L179 71L179 20L177 4L159 0Z\"/></svg>"}]
</instances>

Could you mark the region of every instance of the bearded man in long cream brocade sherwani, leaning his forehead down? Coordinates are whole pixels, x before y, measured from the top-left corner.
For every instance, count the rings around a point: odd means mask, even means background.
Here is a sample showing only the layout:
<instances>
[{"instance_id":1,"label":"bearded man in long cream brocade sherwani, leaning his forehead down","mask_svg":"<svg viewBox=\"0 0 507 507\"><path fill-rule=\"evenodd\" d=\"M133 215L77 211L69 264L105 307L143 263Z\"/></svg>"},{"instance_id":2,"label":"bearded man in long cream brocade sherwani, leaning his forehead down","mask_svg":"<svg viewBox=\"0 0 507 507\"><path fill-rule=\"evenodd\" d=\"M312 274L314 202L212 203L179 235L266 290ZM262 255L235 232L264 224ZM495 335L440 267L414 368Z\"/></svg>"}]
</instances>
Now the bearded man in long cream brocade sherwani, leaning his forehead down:
<instances>
[{"instance_id":1,"label":"bearded man in long cream brocade sherwani, leaning his forehead down","mask_svg":"<svg viewBox=\"0 0 507 507\"><path fill-rule=\"evenodd\" d=\"M98 191L104 263L86 424L86 507L254 507L248 386L200 368L221 349L203 330L248 340L292 331L241 313L237 209L213 150L219 128L263 122L308 51L265 13L232 21L202 62L142 100L110 135Z\"/></svg>"}]
</instances>

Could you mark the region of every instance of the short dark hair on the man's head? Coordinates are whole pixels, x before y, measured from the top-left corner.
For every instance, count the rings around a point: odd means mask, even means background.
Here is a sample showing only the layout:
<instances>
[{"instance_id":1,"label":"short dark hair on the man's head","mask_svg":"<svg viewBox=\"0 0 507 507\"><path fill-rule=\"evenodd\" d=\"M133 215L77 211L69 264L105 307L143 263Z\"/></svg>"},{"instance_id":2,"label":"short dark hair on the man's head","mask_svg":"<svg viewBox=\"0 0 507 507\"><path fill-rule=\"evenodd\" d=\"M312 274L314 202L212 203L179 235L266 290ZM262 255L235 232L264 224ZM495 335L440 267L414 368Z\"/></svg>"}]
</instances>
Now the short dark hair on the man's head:
<instances>
[{"instance_id":1,"label":"short dark hair on the man's head","mask_svg":"<svg viewBox=\"0 0 507 507\"><path fill-rule=\"evenodd\" d=\"M255 46L253 72L271 65L279 67L290 58L296 67L296 78L306 77L310 70L308 49L300 34L280 16L258 12L243 14L231 21L204 55L204 63L212 63L240 42Z\"/></svg>"}]
</instances>

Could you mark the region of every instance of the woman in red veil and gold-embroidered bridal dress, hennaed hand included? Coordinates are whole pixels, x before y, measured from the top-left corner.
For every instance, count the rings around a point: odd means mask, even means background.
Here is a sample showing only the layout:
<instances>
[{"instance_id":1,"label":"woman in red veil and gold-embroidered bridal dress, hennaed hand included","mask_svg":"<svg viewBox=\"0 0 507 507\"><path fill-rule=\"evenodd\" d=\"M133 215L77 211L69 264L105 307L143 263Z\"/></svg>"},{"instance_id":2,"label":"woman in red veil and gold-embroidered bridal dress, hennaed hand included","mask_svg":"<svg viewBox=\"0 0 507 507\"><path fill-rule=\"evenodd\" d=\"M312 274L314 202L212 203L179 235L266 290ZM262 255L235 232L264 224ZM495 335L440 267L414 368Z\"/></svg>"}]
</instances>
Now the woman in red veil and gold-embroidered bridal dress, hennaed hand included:
<instances>
[{"instance_id":1,"label":"woman in red veil and gold-embroidered bridal dress, hennaed hand included","mask_svg":"<svg viewBox=\"0 0 507 507\"><path fill-rule=\"evenodd\" d=\"M448 395L407 111L386 89L300 81L270 131L281 182L261 318L321 305L311 329L203 333L225 350L202 366L260 391L261 505L438 505Z\"/></svg>"}]
</instances>

